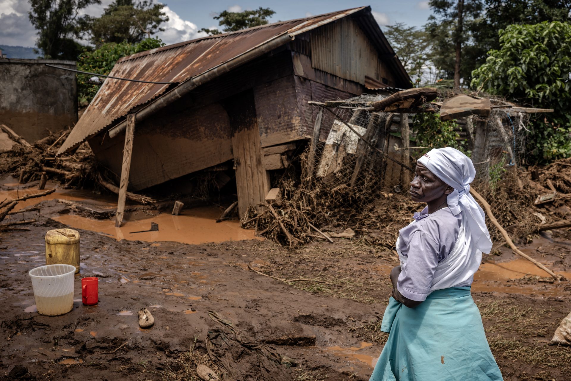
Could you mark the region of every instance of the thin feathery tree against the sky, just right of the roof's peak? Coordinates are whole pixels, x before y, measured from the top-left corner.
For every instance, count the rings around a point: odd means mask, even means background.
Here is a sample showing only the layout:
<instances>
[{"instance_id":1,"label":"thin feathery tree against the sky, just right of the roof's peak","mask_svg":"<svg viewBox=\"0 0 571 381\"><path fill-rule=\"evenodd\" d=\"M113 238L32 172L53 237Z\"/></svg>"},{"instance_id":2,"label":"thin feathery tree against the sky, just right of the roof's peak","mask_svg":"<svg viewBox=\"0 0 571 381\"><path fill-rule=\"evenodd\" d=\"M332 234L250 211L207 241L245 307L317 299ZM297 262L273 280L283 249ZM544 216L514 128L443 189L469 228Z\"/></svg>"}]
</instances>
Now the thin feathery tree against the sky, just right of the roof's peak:
<instances>
[{"instance_id":1,"label":"thin feathery tree against the sky, just right of the roof's peak","mask_svg":"<svg viewBox=\"0 0 571 381\"><path fill-rule=\"evenodd\" d=\"M417 29L415 26L407 27L401 22L385 26L384 30L400 62L403 63L413 81L420 83L429 61L428 53L431 44L426 31Z\"/></svg>"}]
</instances>

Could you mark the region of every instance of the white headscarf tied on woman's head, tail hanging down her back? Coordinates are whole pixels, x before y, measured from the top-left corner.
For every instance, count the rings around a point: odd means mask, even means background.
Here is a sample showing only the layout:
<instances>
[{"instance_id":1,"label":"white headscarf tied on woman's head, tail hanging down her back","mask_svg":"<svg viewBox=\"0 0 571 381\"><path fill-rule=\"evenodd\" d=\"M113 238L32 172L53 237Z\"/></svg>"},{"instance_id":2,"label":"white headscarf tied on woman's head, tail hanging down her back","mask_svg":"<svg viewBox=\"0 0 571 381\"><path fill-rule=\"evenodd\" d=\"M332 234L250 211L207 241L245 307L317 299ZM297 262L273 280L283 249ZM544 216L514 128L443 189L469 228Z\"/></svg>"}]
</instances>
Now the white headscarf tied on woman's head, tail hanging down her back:
<instances>
[{"instance_id":1,"label":"white headscarf tied on woman's head, tail hanging down her back","mask_svg":"<svg viewBox=\"0 0 571 381\"><path fill-rule=\"evenodd\" d=\"M470 158L457 149L445 147L428 151L417 162L454 188L447 198L448 207L454 215L464 210L463 223L476 247L482 252L490 252L492 240L484 211L470 194L470 183L476 177L476 169Z\"/></svg>"}]
</instances>

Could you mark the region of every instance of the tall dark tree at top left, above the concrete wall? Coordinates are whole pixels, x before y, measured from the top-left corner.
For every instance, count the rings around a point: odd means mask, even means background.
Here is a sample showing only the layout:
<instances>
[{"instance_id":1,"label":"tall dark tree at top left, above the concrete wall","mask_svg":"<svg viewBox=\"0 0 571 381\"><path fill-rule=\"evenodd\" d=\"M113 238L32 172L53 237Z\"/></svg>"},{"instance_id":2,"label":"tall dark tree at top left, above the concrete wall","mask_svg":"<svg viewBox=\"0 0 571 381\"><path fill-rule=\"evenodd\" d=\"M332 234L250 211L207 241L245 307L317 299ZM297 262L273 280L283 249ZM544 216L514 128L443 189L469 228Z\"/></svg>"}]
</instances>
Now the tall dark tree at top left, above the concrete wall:
<instances>
[{"instance_id":1,"label":"tall dark tree at top left, above the concrete wall","mask_svg":"<svg viewBox=\"0 0 571 381\"><path fill-rule=\"evenodd\" d=\"M100 0L30 0L28 17L38 30L36 45L43 57L75 60L81 45L74 38L79 38L79 25L85 18L79 16L79 11L100 3Z\"/></svg>"}]
</instances>

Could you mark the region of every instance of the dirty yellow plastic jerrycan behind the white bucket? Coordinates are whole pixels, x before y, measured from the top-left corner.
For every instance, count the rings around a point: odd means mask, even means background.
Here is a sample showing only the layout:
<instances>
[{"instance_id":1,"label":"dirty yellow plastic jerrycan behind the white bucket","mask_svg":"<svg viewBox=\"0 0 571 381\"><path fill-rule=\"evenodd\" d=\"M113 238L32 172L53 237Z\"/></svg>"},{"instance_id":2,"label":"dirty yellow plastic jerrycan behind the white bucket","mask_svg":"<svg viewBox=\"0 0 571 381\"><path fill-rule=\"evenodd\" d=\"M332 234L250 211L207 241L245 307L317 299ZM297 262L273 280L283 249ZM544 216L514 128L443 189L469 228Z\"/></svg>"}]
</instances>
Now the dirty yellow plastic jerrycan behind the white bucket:
<instances>
[{"instance_id":1,"label":"dirty yellow plastic jerrycan behind the white bucket","mask_svg":"<svg viewBox=\"0 0 571 381\"><path fill-rule=\"evenodd\" d=\"M54 229L46 233L46 264L71 264L79 272L79 232Z\"/></svg>"}]
</instances>

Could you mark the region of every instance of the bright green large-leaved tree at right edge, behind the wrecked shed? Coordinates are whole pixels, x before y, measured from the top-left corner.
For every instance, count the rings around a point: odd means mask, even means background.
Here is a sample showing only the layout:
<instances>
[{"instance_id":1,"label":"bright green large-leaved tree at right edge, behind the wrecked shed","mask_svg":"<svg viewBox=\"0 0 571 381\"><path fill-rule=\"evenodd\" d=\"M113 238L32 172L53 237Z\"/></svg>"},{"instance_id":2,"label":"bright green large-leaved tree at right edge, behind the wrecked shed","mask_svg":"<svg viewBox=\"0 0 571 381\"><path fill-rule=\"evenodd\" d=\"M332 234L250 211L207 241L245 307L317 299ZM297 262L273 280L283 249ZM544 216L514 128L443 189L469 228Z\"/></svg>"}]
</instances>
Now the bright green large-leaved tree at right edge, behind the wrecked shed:
<instances>
[{"instance_id":1,"label":"bright green large-leaved tree at right edge, behind the wrecked shed","mask_svg":"<svg viewBox=\"0 0 571 381\"><path fill-rule=\"evenodd\" d=\"M554 109L532 116L530 160L571 155L571 23L510 25L500 30L500 49L490 50L473 71L472 87L532 105Z\"/></svg>"}]
</instances>

